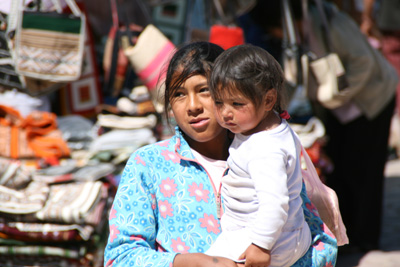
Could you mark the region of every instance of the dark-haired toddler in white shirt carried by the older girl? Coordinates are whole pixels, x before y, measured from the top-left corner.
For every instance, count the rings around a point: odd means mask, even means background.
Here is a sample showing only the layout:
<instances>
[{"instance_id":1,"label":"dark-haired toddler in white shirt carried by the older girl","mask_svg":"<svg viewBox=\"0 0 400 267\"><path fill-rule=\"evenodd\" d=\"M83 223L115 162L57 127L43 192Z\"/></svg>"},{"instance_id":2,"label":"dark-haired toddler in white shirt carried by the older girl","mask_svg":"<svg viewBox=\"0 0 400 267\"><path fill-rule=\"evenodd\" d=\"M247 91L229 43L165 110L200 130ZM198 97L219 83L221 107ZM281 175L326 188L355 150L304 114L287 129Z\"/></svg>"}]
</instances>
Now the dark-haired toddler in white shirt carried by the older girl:
<instances>
[{"instance_id":1,"label":"dark-haired toddler in white shirt carried by the older girl","mask_svg":"<svg viewBox=\"0 0 400 267\"><path fill-rule=\"evenodd\" d=\"M221 180L222 233L207 251L245 266L291 266L311 244L302 210L301 144L283 112L284 76L264 49L216 60L209 87L218 123L235 133Z\"/></svg>"}]
</instances>

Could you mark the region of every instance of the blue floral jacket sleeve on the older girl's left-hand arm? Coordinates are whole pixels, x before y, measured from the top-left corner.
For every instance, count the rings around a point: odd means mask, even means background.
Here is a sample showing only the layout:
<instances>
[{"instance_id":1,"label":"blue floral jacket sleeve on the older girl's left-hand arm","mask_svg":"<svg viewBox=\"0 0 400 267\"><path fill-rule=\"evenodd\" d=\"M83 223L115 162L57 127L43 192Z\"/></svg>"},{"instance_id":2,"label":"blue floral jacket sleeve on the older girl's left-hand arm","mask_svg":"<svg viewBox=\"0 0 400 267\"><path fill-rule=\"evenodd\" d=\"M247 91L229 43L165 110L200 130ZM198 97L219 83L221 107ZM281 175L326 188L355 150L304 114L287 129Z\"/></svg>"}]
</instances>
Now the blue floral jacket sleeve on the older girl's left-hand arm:
<instances>
[{"instance_id":1,"label":"blue floral jacket sleeve on the older girl's left-hand arm","mask_svg":"<svg viewBox=\"0 0 400 267\"><path fill-rule=\"evenodd\" d=\"M137 164L134 153L123 171L109 215L110 235L104 264L172 266L176 253L157 251L155 199L144 177L149 170Z\"/></svg>"}]
</instances>

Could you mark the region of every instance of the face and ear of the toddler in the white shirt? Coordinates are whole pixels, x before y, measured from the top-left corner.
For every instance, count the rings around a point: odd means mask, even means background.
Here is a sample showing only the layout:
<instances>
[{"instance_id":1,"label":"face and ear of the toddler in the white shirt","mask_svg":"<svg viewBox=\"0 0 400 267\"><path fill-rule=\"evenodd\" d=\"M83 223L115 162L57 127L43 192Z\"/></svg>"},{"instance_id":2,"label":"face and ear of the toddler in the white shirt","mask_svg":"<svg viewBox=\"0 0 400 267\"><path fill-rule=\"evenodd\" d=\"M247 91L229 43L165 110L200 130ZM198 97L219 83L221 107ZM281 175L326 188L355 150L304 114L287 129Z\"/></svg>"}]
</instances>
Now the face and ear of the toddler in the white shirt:
<instances>
[{"instance_id":1,"label":"face and ear of the toddler in the white shirt","mask_svg":"<svg viewBox=\"0 0 400 267\"><path fill-rule=\"evenodd\" d=\"M226 94L222 99L217 99L215 101L215 114L218 123L235 134L244 135L269 128L270 121L266 118L273 114L270 111L276 101L273 98L274 92L272 91L275 90L268 91L258 107L238 91L233 94Z\"/></svg>"}]
</instances>

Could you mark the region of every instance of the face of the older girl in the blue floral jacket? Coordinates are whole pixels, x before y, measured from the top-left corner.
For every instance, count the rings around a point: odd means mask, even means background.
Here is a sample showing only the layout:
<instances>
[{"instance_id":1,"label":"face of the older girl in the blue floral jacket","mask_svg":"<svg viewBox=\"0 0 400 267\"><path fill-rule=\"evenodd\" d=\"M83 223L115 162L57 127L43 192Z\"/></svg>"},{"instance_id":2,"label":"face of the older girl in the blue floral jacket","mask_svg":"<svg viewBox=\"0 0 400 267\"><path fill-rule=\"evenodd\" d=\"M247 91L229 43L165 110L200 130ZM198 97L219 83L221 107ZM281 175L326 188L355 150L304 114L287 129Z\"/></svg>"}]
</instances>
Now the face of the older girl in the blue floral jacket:
<instances>
[{"instance_id":1,"label":"face of the older girl in the blue floral jacket","mask_svg":"<svg viewBox=\"0 0 400 267\"><path fill-rule=\"evenodd\" d=\"M198 152L206 142L225 143L226 130L214 116L214 102L204 76L188 78L172 96L171 109L189 145Z\"/></svg>"}]
</instances>

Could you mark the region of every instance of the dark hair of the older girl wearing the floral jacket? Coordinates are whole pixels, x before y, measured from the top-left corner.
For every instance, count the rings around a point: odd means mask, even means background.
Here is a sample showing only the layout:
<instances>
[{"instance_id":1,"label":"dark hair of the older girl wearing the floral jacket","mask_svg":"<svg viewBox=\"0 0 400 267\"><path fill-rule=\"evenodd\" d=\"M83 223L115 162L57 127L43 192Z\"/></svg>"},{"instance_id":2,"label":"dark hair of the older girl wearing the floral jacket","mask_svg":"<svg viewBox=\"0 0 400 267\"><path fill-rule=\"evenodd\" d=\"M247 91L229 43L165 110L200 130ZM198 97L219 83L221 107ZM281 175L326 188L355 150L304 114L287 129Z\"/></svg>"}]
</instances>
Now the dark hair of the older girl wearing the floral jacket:
<instances>
[{"instance_id":1,"label":"dark hair of the older girl wearing the floral jacket","mask_svg":"<svg viewBox=\"0 0 400 267\"><path fill-rule=\"evenodd\" d=\"M223 51L220 46L209 42L193 42L176 50L168 64L165 77L164 104L167 119L176 90L192 76L208 77L212 64Z\"/></svg>"}]
</instances>

